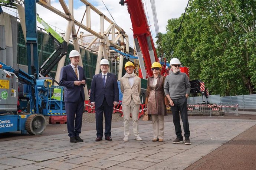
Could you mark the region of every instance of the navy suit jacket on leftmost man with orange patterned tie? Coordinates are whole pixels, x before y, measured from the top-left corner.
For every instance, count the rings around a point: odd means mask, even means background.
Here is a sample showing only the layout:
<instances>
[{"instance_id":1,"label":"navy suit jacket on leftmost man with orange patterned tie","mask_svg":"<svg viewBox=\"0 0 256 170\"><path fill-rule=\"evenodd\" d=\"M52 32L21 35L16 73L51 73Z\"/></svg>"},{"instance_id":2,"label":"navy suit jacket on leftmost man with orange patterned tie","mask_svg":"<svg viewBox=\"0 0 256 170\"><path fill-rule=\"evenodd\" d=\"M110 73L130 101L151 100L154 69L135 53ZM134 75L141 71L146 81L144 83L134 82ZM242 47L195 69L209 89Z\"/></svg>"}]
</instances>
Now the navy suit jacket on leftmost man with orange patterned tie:
<instances>
[{"instance_id":1,"label":"navy suit jacket on leftmost man with orange patterned tie","mask_svg":"<svg viewBox=\"0 0 256 170\"><path fill-rule=\"evenodd\" d=\"M86 80L83 68L81 66L78 66L78 71L79 80ZM74 84L74 81L78 81L78 78L76 77L72 66L69 64L62 67L60 71L60 86L65 86L64 102L77 102L79 100L80 93L82 93L83 100L85 100L85 93L83 91L83 87L85 85L81 84L80 86L77 86Z\"/></svg>"}]
</instances>

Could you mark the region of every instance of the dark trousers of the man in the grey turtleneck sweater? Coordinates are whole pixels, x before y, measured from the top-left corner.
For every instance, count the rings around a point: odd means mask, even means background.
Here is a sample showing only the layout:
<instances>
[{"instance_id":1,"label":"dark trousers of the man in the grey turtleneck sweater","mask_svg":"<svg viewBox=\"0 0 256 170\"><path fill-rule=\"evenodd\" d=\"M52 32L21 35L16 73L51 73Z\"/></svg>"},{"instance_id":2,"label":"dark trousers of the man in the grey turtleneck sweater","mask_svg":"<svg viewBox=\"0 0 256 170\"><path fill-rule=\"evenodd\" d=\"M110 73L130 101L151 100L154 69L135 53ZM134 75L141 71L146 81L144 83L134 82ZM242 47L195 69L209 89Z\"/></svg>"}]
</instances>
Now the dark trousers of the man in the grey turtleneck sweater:
<instances>
[{"instance_id":1,"label":"dark trousers of the man in the grey turtleneck sweater","mask_svg":"<svg viewBox=\"0 0 256 170\"><path fill-rule=\"evenodd\" d=\"M171 112L173 113L173 124L175 126L175 133L177 137L182 137L180 116L183 123L184 136L189 137L189 124L188 124L188 111L187 111L187 98L184 96L180 99L173 99L174 106L171 106ZM180 111L180 114L179 114Z\"/></svg>"}]
</instances>

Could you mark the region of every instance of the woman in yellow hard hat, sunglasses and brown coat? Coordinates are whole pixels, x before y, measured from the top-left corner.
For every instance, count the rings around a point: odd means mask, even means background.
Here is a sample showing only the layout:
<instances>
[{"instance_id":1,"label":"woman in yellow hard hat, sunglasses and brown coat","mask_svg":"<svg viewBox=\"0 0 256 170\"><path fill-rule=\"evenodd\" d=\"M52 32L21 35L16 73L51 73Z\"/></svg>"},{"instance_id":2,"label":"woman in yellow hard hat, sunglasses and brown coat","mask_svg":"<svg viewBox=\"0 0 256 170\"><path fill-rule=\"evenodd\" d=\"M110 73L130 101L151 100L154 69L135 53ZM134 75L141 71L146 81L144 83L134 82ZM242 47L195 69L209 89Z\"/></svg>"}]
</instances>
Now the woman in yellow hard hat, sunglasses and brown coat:
<instances>
[{"instance_id":1,"label":"woman in yellow hard hat, sunglasses and brown coat","mask_svg":"<svg viewBox=\"0 0 256 170\"><path fill-rule=\"evenodd\" d=\"M148 78L145 104L147 113L151 115L153 126L153 142L164 141L164 116L167 115L166 106L169 104L164 94L165 77L161 76L162 66L159 62L154 62L151 66L153 76Z\"/></svg>"}]
</instances>

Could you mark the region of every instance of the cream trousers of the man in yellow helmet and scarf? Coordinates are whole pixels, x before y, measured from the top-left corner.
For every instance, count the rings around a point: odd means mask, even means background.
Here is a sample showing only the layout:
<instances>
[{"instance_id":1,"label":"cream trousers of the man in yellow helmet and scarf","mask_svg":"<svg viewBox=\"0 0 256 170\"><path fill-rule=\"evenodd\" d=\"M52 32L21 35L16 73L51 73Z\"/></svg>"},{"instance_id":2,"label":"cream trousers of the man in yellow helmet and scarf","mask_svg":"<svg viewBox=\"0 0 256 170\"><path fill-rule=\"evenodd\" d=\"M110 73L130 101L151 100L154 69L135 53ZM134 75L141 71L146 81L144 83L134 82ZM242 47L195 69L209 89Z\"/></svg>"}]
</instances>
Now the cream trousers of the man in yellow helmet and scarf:
<instances>
[{"instance_id":1,"label":"cream trousers of the man in yellow helmet and scarf","mask_svg":"<svg viewBox=\"0 0 256 170\"><path fill-rule=\"evenodd\" d=\"M139 108L140 105L136 105L133 99L129 105L122 105L123 115L124 115L124 136L129 136L130 129L129 129L129 120L132 113L132 129L133 134L135 137L139 136Z\"/></svg>"}]
</instances>

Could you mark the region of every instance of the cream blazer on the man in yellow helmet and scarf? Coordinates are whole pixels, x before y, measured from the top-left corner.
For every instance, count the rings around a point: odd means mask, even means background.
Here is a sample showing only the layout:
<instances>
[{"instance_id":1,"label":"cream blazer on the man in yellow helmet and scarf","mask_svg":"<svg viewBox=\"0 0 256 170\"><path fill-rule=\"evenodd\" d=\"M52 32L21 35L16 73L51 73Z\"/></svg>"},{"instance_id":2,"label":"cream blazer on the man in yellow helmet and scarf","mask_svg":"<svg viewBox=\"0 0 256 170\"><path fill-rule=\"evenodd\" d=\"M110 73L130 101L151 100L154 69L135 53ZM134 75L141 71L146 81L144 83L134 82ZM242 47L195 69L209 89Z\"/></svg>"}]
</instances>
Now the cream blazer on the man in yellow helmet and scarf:
<instances>
[{"instance_id":1,"label":"cream blazer on the man in yellow helmet and scarf","mask_svg":"<svg viewBox=\"0 0 256 170\"><path fill-rule=\"evenodd\" d=\"M129 105L131 98L136 105L140 105L141 79L138 76L134 77L134 84L130 85L127 77L122 77L120 80L121 92L123 93L122 105Z\"/></svg>"}]
</instances>

